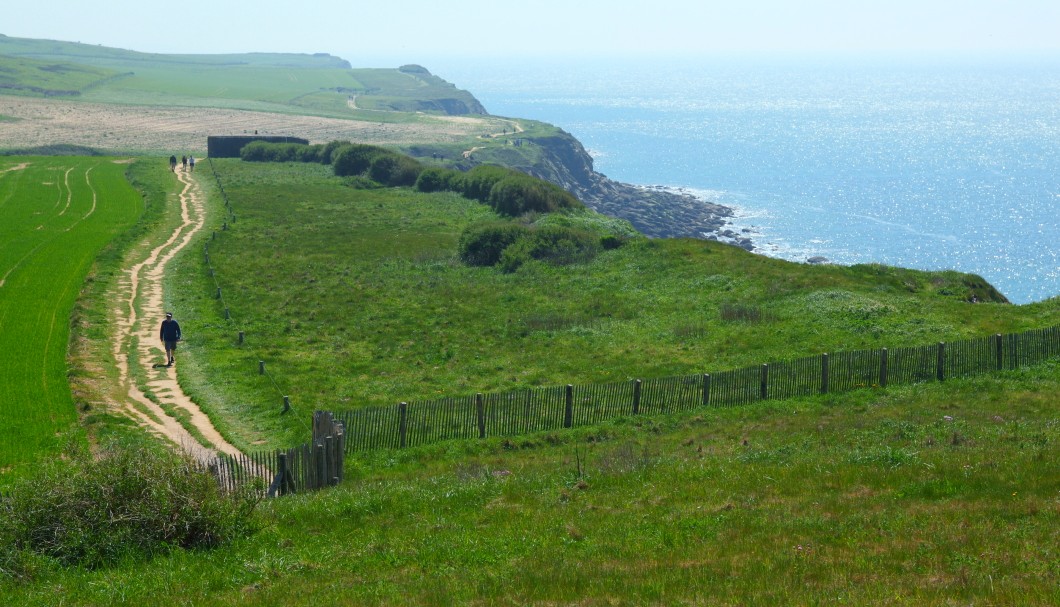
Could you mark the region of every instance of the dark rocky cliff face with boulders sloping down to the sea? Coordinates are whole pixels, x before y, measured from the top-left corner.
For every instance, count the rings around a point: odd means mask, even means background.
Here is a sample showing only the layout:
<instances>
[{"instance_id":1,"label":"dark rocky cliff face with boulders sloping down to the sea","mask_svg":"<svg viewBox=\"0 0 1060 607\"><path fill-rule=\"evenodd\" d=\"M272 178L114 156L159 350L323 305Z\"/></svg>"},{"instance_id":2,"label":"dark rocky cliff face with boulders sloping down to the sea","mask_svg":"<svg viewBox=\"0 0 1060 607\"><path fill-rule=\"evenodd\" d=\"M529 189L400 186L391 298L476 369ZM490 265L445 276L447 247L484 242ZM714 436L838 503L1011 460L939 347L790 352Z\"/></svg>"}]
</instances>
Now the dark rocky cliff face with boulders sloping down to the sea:
<instances>
[{"instance_id":1,"label":"dark rocky cliff face with boulders sloping down to the sea","mask_svg":"<svg viewBox=\"0 0 1060 607\"><path fill-rule=\"evenodd\" d=\"M581 142L563 130L556 129L549 137L528 138L527 144L538 147L541 154L505 155L496 159L483 156L487 161L496 160L551 181L593 210L626 219L648 236L716 238L753 249L749 239L724 229L726 218L732 215L731 209L660 188L608 179L594 169L593 157Z\"/></svg>"}]
</instances>

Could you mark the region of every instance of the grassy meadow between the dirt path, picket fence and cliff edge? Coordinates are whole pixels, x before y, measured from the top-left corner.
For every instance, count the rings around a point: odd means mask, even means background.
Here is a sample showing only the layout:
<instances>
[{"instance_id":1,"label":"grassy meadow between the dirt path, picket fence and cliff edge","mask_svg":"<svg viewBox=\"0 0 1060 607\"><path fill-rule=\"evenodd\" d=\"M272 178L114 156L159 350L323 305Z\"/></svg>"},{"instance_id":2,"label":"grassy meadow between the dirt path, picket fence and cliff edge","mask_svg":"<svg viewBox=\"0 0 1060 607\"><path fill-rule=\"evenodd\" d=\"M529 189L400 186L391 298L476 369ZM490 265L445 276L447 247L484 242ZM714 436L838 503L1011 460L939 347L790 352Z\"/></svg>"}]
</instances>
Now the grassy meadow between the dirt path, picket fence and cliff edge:
<instances>
[{"instance_id":1,"label":"grassy meadow between the dirt path, picket fence and cliff edge","mask_svg":"<svg viewBox=\"0 0 1060 607\"><path fill-rule=\"evenodd\" d=\"M587 265L505 274L457 258L463 228L492 217L473 201L352 190L317 165L215 165L235 214L209 244L215 276L197 249L169 292L186 327L186 390L244 447L301 442L314 409L716 372L1060 322L1060 299L968 303L992 292L976 276L798 265L700 240L634 238ZM543 220L628 230L591 213ZM297 415L280 413L283 395Z\"/></svg>"}]
</instances>

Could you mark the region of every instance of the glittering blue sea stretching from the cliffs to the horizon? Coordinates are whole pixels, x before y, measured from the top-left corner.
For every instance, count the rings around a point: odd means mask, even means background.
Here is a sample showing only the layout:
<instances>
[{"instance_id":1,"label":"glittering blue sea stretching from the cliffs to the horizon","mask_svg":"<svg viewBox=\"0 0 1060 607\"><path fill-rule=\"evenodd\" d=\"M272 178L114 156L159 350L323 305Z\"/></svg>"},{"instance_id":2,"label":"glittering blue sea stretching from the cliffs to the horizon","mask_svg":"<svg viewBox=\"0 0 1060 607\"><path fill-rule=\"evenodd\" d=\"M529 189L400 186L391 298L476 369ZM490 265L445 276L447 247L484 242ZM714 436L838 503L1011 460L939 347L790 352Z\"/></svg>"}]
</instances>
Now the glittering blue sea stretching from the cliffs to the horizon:
<instances>
[{"instance_id":1,"label":"glittering blue sea stretching from the cliffs to the horizon","mask_svg":"<svg viewBox=\"0 0 1060 607\"><path fill-rule=\"evenodd\" d=\"M439 59L596 168L731 207L757 251L1060 296L1060 57Z\"/></svg>"}]
</instances>

